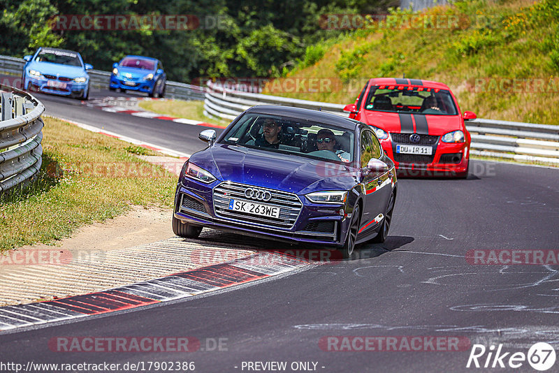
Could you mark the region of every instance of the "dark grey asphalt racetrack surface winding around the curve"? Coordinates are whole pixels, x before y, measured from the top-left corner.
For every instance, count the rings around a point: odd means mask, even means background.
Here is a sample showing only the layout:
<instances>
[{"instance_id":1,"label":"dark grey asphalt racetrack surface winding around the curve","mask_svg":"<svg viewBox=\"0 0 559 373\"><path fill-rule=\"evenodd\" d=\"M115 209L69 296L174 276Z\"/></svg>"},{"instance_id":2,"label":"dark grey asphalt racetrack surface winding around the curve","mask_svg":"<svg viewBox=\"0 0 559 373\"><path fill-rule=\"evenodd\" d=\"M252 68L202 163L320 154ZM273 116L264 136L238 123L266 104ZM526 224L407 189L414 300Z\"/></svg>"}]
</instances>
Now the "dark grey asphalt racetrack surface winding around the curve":
<instances>
[{"instance_id":1,"label":"dark grey asphalt racetrack surface winding around the curve","mask_svg":"<svg viewBox=\"0 0 559 373\"><path fill-rule=\"evenodd\" d=\"M37 96L49 115L181 152L203 147L197 126ZM248 370L247 362L275 361L287 363L279 372L302 371L291 370L294 362L317 363L319 372L486 372L466 367L471 347L324 351L319 342L328 336L465 337L487 348L503 344L509 356L528 353L535 342L548 342L559 352L559 265L472 265L465 259L472 249L559 249L558 227L559 170L472 161L467 180L400 179L389 238L361 245L352 261L158 307L7 332L0 335L0 360L24 365L188 361L196 372L273 372ZM71 336L196 337L201 349L69 353L49 348L53 337ZM212 349L216 339L222 340L222 351ZM481 365L486 358L487 353L479 358ZM549 372L558 367L556 362ZM535 370L524 361L514 371Z\"/></svg>"}]
</instances>

